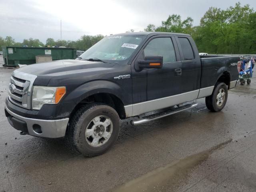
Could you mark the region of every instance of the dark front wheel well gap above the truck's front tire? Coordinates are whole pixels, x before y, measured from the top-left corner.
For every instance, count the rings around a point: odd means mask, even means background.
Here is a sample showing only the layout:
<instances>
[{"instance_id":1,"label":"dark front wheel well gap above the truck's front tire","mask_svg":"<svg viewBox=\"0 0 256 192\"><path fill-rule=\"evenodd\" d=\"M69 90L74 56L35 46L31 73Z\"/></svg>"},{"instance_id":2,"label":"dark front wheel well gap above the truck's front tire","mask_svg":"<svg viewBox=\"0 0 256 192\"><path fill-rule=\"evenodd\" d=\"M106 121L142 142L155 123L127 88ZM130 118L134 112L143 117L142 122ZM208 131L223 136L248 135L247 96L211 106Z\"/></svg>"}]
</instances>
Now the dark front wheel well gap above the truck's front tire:
<instances>
[{"instance_id":1,"label":"dark front wheel well gap above the truck's front tire","mask_svg":"<svg viewBox=\"0 0 256 192\"><path fill-rule=\"evenodd\" d=\"M82 106L89 103L94 103L94 102L107 104L116 110L120 119L126 118L123 102L117 96L109 93L97 93L97 94L88 96L87 98L85 98L84 100L82 100L80 103L76 105L76 107L74 108L70 116L72 116L74 112L76 112Z\"/></svg>"}]
</instances>

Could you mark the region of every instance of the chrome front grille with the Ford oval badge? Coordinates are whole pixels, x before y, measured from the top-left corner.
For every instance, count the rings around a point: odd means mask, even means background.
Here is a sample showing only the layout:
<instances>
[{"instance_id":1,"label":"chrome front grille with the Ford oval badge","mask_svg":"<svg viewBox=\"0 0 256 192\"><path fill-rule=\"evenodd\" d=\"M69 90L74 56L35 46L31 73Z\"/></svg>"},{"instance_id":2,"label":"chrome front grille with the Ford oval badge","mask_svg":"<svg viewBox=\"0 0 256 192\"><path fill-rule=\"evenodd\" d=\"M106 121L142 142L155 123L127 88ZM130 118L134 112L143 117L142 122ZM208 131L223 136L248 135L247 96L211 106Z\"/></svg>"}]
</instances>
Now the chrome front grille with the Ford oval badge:
<instances>
[{"instance_id":1,"label":"chrome front grille with the Ford oval badge","mask_svg":"<svg viewBox=\"0 0 256 192\"><path fill-rule=\"evenodd\" d=\"M30 109L31 90L37 76L15 70L9 84L9 100L18 106Z\"/></svg>"}]
</instances>

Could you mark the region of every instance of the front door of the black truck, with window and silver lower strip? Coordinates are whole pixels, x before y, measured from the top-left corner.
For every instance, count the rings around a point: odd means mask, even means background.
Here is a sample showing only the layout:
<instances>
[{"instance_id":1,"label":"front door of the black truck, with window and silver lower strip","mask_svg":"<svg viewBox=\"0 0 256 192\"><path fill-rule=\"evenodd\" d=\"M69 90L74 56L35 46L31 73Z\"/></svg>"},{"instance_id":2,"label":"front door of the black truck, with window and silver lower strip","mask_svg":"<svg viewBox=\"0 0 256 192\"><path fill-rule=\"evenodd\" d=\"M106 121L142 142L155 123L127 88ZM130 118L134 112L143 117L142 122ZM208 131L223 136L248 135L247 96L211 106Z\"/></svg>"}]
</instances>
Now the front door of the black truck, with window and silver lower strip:
<instances>
[{"instance_id":1,"label":"front door of the black truck, with window and silver lower strip","mask_svg":"<svg viewBox=\"0 0 256 192\"><path fill-rule=\"evenodd\" d=\"M180 103L182 62L176 41L171 36L152 37L136 60L145 56L163 56L160 69L132 69L133 116Z\"/></svg>"}]
</instances>

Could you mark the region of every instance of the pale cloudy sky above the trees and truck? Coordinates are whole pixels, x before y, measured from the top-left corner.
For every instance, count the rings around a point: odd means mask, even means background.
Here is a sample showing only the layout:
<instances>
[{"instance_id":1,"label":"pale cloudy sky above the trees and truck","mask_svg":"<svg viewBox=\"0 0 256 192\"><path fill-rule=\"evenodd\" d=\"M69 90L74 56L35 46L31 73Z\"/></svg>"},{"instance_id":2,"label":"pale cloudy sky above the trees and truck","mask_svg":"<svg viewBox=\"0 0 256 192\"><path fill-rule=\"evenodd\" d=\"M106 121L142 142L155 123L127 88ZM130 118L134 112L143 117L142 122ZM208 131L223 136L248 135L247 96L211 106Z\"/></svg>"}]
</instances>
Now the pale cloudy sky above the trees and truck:
<instances>
[{"instance_id":1,"label":"pale cloudy sky above the trees and truck","mask_svg":"<svg viewBox=\"0 0 256 192\"><path fill-rule=\"evenodd\" d=\"M194 25L210 6L226 9L236 0L0 0L0 36L12 36L17 42L48 37L77 40L84 34L115 34L147 24L156 26L170 14L190 16ZM256 7L256 0L240 0Z\"/></svg>"}]
</instances>

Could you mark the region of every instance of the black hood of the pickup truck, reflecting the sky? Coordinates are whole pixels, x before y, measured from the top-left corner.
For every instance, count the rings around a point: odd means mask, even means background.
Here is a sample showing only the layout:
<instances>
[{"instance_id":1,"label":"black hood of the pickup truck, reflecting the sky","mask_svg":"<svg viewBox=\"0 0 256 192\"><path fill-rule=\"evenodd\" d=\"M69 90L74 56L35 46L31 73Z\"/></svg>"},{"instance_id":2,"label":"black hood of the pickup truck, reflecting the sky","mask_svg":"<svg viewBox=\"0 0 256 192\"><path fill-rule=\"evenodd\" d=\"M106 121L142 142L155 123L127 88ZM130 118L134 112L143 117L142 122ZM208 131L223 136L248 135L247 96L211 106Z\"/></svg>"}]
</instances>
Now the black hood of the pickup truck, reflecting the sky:
<instances>
[{"instance_id":1,"label":"black hood of the pickup truck, reflecting the sky","mask_svg":"<svg viewBox=\"0 0 256 192\"><path fill-rule=\"evenodd\" d=\"M40 64L32 64L17 70L37 76L63 76L79 72L102 71L115 64L92 62L85 60L56 60Z\"/></svg>"}]
</instances>

